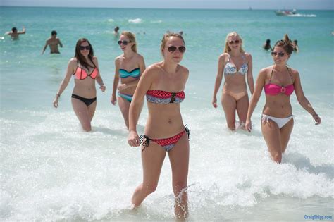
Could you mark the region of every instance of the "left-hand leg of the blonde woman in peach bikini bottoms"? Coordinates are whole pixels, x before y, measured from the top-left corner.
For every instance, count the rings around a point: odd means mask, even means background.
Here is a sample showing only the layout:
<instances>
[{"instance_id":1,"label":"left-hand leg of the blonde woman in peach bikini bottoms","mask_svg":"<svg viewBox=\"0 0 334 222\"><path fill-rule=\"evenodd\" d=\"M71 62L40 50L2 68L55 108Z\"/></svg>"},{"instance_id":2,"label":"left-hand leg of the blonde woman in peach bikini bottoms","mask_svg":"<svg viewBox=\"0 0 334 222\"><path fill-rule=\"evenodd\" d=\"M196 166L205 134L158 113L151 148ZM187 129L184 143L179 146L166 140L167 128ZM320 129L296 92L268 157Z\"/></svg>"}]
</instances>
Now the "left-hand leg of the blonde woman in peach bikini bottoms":
<instances>
[{"instance_id":1,"label":"left-hand leg of the blonde woman in peach bikini bottoms","mask_svg":"<svg viewBox=\"0 0 334 222\"><path fill-rule=\"evenodd\" d=\"M230 130L235 130L235 109L237 107L237 102L228 93L223 93L221 97L221 105L223 106L225 112L226 123Z\"/></svg>"}]
</instances>

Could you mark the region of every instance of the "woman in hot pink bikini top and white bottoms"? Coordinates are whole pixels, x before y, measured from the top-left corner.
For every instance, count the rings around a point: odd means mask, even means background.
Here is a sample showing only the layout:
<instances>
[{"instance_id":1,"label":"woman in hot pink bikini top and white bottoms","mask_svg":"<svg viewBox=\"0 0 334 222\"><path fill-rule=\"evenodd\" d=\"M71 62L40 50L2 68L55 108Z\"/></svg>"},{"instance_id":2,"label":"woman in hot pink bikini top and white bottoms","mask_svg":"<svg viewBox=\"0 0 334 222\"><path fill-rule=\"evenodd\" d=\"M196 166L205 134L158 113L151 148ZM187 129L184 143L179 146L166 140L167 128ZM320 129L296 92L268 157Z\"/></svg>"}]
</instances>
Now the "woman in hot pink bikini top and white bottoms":
<instances>
[{"instance_id":1,"label":"woman in hot pink bikini top and white bottoms","mask_svg":"<svg viewBox=\"0 0 334 222\"><path fill-rule=\"evenodd\" d=\"M295 91L299 104L311 114L314 123L316 125L321 123L321 118L304 95L298 71L287 66L292 51L292 43L285 34L284 39L276 42L271 52L273 66L260 70L245 125L250 132L252 130L252 113L259 101L262 89L264 89L266 104L261 116L261 130L271 159L278 164L282 161L282 155L287 148L294 124L290 104L290 95L293 91Z\"/></svg>"}]
</instances>

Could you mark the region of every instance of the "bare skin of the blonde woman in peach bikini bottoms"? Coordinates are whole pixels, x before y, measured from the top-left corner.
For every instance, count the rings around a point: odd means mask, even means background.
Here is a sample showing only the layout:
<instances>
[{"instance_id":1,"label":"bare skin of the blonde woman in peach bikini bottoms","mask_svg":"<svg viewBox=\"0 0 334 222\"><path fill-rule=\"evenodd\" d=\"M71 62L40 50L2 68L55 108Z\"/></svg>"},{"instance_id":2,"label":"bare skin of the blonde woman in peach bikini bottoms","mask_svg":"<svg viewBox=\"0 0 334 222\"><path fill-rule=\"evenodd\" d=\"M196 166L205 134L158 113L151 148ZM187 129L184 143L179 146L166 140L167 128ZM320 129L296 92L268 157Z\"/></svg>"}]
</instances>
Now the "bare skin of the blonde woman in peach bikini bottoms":
<instances>
[{"instance_id":1,"label":"bare skin of the blonde woman in peach bikini bottoms","mask_svg":"<svg viewBox=\"0 0 334 222\"><path fill-rule=\"evenodd\" d=\"M219 87L221 86L221 81L223 80L223 76L225 76L225 82L223 85L225 90L235 93L245 92L245 91L247 92L245 75L242 75L240 73L235 73L234 75L223 75L223 70L226 63L228 63L229 57L230 57L230 63L233 63L233 65L237 68L237 70L240 70L240 67L242 66L243 63L245 62L247 63L248 65L248 71L246 74L247 83L250 92L252 94L254 92L254 80L252 75L252 56L251 54L245 53L244 54L246 58L245 61L242 58L242 52L240 52L240 43L236 44L235 40L239 40L241 42L240 38L237 36L228 37L228 42L233 41L233 44L228 43L228 46L231 49L231 51L229 52L230 55L224 53L221 54L221 56L219 56L218 58L218 72L214 87L214 96L212 99L212 106L214 106L214 108L217 108L216 94L219 90ZM247 109L249 105L249 100L247 95L236 101L234 97L230 96L230 94L223 94L221 97L221 105L223 106L226 122L230 130L235 130L235 111L237 111L237 115L240 121L242 123L246 122Z\"/></svg>"}]
</instances>

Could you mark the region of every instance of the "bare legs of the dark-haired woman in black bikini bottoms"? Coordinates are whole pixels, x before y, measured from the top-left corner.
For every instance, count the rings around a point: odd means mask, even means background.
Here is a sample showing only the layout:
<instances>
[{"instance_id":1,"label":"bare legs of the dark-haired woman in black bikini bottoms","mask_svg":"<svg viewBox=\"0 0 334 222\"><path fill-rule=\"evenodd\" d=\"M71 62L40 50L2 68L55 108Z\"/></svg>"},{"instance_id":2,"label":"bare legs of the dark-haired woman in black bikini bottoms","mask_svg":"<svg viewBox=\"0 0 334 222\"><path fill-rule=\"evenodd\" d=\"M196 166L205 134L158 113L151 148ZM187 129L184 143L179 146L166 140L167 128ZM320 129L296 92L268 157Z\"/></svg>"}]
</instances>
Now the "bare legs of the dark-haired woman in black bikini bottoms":
<instances>
[{"instance_id":1,"label":"bare legs of the dark-haired woman in black bikini bottoms","mask_svg":"<svg viewBox=\"0 0 334 222\"><path fill-rule=\"evenodd\" d=\"M92 130L92 126L90 124L90 121L92 121L92 118L94 116L94 111L89 111L89 108L86 106L86 104L81 101L80 99L71 98L72 101L72 107L75 112L75 115L77 115L81 125L82 129L86 132L89 132ZM94 101L93 104L90 104L90 106L96 107L97 102Z\"/></svg>"}]
</instances>

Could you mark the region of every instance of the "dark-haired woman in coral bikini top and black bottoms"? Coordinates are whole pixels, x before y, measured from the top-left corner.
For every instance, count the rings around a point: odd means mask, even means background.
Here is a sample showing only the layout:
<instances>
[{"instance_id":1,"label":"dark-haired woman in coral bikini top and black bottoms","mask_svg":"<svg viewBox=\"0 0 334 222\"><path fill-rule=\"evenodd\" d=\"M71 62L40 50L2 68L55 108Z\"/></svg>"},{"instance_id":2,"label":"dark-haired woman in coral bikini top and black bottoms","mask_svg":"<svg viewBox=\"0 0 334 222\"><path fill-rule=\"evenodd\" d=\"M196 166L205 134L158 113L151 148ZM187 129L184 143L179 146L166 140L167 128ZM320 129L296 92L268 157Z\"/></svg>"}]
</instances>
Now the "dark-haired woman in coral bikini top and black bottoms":
<instances>
[{"instance_id":1,"label":"dark-haired woman in coral bikini top and black bottoms","mask_svg":"<svg viewBox=\"0 0 334 222\"><path fill-rule=\"evenodd\" d=\"M85 38L78 40L75 46L75 56L68 62L66 75L61 81L54 98L55 108L58 108L58 100L72 76L75 82L71 100L73 110L82 125L82 129L89 132L92 130L91 121L97 107L95 80L102 92L106 90L106 87L99 72L99 63L97 57L94 56L92 44Z\"/></svg>"}]
</instances>

